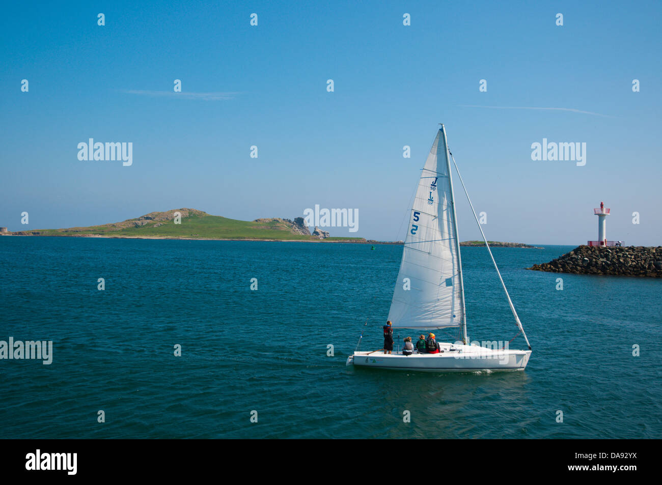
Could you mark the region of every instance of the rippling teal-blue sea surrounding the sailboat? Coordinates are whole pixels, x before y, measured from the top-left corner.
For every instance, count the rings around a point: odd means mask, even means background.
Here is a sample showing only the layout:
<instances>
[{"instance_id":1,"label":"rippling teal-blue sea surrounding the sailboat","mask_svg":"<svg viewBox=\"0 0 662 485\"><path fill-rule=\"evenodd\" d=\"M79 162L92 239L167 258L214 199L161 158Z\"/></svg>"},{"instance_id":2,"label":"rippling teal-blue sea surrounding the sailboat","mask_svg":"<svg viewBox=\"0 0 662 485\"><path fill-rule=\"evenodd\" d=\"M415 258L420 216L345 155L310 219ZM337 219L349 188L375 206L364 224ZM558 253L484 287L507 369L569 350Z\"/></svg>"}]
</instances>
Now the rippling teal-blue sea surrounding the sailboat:
<instances>
[{"instance_id":1,"label":"rippling teal-blue sea surrounding the sailboat","mask_svg":"<svg viewBox=\"0 0 662 485\"><path fill-rule=\"evenodd\" d=\"M2 237L0 340L53 360L0 360L0 437L659 438L662 281L524 269L571 249L493 250L524 372L429 374L345 365L361 331L381 348L398 245ZM471 340L509 341L487 250L461 251Z\"/></svg>"}]
</instances>

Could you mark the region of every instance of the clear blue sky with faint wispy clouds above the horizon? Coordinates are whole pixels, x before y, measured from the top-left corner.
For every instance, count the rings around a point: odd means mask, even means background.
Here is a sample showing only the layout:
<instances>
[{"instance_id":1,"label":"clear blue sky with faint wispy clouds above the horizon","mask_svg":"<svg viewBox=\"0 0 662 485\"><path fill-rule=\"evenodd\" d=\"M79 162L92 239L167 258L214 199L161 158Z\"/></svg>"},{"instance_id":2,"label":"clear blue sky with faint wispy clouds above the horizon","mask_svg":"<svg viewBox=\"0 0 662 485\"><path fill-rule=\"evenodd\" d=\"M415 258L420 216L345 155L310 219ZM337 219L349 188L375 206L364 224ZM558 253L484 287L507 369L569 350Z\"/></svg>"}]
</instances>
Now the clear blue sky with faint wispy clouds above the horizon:
<instances>
[{"instance_id":1,"label":"clear blue sky with faint wispy clouds above the horizon","mask_svg":"<svg viewBox=\"0 0 662 485\"><path fill-rule=\"evenodd\" d=\"M9 230L180 207L294 218L320 204L358 209L352 236L402 239L418 169L444 122L489 239L585 243L597 238L592 208L604 200L608 239L662 244L657 1L3 9L0 226ZM133 164L79 161L88 138L132 142ZM585 142L586 165L532 161L531 144L543 138ZM479 238L456 195L461 239Z\"/></svg>"}]
</instances>

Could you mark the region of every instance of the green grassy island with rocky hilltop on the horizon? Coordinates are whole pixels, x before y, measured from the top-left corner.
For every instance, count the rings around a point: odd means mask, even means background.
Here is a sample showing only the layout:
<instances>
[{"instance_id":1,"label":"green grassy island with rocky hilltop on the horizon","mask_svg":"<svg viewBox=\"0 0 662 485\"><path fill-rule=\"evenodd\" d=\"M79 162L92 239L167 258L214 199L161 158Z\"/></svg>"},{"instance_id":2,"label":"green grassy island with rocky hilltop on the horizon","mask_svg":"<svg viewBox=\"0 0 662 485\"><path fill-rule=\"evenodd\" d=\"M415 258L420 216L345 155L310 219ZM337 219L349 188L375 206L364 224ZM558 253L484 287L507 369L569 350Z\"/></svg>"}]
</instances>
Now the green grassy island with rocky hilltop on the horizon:
<instances>
[{"instance_id":1,"label":"green grassy island with rocky hilltop on the horizon","mask_svg":"<svg viewBox=\"0 0 662 485\"><path fill-rule=\"evenodd\" d=\"M181 213L181 224L175 224L175 212ZM114 224L68 229L40 229L14 232L13 234L25 236L319 241L318 238L299 233L300 231L297 226L280 218L258 219L254 221L236 220L221 216L212 216L202 210L181 208L168 210L167 212L150 212L150 214L139 218L128 219ZM350 240L352 238L328 238L328 240L336 242L345 239Z\"/></svg>"}]
</instances>

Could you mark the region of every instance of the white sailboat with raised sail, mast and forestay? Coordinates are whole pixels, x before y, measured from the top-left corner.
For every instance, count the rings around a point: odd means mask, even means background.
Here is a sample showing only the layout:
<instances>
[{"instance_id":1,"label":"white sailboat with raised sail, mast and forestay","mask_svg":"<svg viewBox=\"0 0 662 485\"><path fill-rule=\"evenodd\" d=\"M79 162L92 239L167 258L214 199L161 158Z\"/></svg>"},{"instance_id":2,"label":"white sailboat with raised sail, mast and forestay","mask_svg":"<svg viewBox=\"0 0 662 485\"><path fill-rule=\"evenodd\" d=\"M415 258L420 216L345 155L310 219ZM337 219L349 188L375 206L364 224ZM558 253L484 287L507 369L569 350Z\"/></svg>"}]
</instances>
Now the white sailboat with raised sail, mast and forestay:
<instances>
[{"instance_id":1,"label":"white sailboat with raised sail, mast and forestay","mask_svg":"<svg viewBox=\"0 0 662 485\"><path fill-rule=\"evenodd\" d=\"M461 340L455 343L439 342L439 353L418 353L414 350L411 355L404 355L401 351L385 353L382 350L355 350L348 357L347 365L428 372L524 371L531 355L531 345L480 224L478 227L485 246L528 350L511 350L508 345L496 349L481 347L470 343L467 336L451 160L476 222L479 222L457 163L448 149L446 128L442 124L418 181L388 320L392 322L393 328L416 331L461 328ZM359 337L357 349L362 337L363 333Z\"/></svg>"}]
</instances>

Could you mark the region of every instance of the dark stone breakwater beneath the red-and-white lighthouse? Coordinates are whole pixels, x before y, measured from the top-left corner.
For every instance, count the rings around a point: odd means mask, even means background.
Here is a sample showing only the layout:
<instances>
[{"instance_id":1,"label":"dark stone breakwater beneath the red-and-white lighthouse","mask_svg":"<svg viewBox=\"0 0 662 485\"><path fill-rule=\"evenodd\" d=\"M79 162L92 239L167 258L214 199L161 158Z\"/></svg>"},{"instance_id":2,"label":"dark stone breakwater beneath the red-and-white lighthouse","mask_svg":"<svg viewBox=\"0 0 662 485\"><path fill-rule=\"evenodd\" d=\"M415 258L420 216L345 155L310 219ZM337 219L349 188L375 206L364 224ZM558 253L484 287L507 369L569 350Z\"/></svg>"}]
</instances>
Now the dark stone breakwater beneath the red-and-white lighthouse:
<instances>
[{"instance_id":1,"label":"dark stone breakwater beneath the red-and-white lighthouse","mask_svg":"<svg viewBox=\"0 0 662 485\"><path fill-rule=\"evenodd\" d=\"M662 246L597 247L581 245L549 263L527 269L581 275L662 277Z\"/></svg>"}]
</instances>

